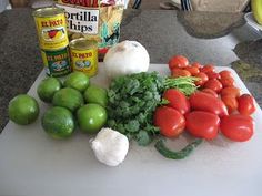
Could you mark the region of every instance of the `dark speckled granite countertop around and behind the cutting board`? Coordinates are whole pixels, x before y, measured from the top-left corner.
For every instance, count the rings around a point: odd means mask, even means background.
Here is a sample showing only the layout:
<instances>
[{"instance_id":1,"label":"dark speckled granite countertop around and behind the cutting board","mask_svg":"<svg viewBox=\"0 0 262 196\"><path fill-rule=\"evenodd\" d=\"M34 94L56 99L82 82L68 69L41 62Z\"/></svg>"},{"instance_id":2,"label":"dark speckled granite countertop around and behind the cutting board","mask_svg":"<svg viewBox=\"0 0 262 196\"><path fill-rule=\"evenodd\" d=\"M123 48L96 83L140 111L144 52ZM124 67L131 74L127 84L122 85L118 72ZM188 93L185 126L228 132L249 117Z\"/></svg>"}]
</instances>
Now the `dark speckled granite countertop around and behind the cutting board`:
<instances>
[{"instance_id":1,"label":"dark speckled granite countertop around and behind the cutting board","mask_svg":"<svg viewBox=\"0 0 262 196\"><path fill-rule=\"evenodd\" d=\"M243 14L125 10L120 39L141 42L151 63L167 63L173 54L183 54L190 61L232 66L261 106L260 38ZM42 68L32 10L0 13L0 130L8 122L10 99L27 93Z\"/></svg>"}]
</instances>

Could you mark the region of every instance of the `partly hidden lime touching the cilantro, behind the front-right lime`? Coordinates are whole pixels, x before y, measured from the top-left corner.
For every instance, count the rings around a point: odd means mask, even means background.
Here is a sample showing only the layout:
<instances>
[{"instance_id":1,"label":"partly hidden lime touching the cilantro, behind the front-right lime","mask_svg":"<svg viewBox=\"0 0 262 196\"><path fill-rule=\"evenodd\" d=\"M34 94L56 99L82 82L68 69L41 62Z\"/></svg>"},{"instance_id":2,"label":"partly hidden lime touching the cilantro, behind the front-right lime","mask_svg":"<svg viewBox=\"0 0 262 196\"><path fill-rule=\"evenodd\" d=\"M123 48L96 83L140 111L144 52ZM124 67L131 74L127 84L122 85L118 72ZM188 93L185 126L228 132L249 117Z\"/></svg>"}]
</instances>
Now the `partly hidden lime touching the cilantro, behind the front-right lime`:
<instances>
[{"instance_id":1,"label":"partly hidden lime touching the cilantro, behind the front-right lime","mask_svg":"<svg viewBox=\"0 0 262 196\"><path fill-rule=\"evenodd\" d=\"M88 103L97 103L105 107L108 105L107 90L97 85L89 85L83 94L84 100Z\"/></svg>"}]
</instances>

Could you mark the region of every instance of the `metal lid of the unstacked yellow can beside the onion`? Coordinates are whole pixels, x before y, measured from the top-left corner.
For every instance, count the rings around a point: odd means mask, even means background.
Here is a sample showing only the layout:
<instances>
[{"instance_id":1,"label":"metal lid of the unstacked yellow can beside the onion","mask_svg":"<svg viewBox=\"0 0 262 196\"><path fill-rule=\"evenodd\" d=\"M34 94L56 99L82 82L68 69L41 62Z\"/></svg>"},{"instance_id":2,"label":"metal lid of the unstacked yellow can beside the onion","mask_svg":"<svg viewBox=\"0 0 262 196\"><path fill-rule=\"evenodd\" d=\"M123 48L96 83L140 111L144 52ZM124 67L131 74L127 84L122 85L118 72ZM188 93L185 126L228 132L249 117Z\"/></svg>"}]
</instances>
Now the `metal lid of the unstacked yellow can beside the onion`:
<instances>
[{"instance_id":1,"label":"metal lid of the unstacked yellow can beside the onion","mask_svg":"<svg viewBox=\"0 0 262 196\"><path fill-rule=\"evenodd\" d=\"M94 48L98 48L98 42L94 40L88 40L85 38L79 38L79 39L72 40L69 43L69 47L71 49L77 49L77 50L94 49Z\"/></svg>"}]
</instances>

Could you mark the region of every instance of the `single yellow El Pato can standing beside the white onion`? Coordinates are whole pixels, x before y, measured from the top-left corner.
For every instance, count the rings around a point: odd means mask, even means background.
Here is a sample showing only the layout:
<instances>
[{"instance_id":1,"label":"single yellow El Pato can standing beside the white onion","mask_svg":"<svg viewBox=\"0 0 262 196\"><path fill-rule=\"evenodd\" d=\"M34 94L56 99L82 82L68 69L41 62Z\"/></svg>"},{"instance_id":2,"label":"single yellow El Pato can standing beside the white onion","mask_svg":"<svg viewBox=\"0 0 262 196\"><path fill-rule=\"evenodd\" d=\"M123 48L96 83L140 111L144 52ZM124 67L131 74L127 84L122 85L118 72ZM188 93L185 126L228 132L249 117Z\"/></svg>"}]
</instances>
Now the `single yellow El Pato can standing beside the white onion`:
<instances>
[{"instance_id":1,"label":"single yellow El Pato can standing beside the white onion","mask_svg":"<svg viewBox=\"0 0 262 196\"><path fill-rule=\"evenodd\" d=\"M72 40L69 47L73 71L81 71L88 76L95 75L98 72L98 42L80 38Z\"/></svg>"}]
</instances>

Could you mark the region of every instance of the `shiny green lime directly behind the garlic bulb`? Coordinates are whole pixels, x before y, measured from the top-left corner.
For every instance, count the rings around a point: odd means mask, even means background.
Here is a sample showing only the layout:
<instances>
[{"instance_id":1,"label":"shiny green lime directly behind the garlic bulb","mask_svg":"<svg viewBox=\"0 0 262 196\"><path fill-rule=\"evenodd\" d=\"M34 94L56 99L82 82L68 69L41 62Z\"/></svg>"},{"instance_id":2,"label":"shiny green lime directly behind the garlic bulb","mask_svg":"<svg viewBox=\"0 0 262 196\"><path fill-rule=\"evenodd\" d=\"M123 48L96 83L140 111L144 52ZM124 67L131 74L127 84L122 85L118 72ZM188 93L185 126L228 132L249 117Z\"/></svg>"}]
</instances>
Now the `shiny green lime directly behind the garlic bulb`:
<instances>
[{"instance_id":1,"label":"shiny green lime directly behind the garlic bulb","mask_svg":"<svg viewBox=\"0 0 262 196\"><path fill-rule=\"evenodd\" d=\"M85 133L98 133L105 124L108 114L101 105L89 103L78 110L77 117L80 130Z\"/></svg>"}]
</instances>

